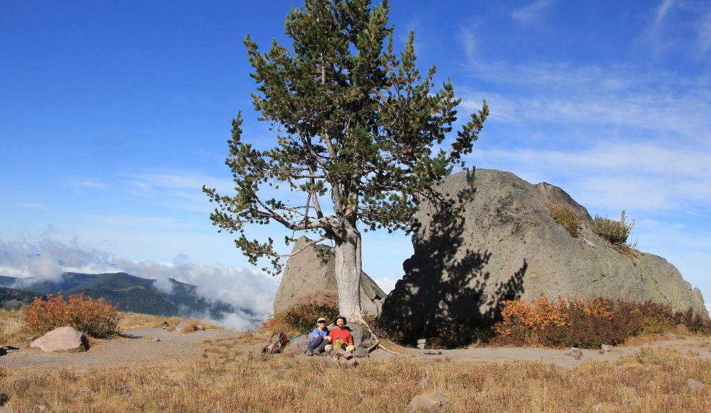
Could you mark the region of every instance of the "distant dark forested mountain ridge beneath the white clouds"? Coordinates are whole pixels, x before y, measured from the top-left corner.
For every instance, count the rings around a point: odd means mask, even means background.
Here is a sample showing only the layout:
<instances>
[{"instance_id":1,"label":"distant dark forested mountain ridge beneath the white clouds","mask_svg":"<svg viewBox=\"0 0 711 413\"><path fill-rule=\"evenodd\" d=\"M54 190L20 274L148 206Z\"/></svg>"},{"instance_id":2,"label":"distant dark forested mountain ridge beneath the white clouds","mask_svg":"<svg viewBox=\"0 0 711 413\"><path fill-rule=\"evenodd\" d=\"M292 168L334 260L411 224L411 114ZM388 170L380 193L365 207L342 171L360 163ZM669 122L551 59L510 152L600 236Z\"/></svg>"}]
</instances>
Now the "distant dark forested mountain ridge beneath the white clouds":
<instances>
[{"instance_id":1,"label":"distant dark forested mountain ridge beneath the white clouds","mask_svg":"<svg viewBox=\"0 0 711 413\"><path fill-rule=\"evenodd\" d=\"M65 296L84 294L92 299L104 298L111 304L117 305L119 311L133 311L136 313L154 314L156 316L189 316L191 313L208 313L210 317L220 320L225 313L241 311L247 316L257 318L250 309L235 308L222 301L208 301L198 296L197 286L185 284L175 279L169 279L171 292L167 293L156 289L155 279L135 277L125 272L104 274L80 274L65 272L60 281L19 279L0 275L0 287L4 289L5 297L19 299L25 297L27 291L36 296L58 294L63 291ZM19 297L12 297L9 289L23 291ZM0 308L3 307L0 299Z\"/></svg>"}]
</instances>

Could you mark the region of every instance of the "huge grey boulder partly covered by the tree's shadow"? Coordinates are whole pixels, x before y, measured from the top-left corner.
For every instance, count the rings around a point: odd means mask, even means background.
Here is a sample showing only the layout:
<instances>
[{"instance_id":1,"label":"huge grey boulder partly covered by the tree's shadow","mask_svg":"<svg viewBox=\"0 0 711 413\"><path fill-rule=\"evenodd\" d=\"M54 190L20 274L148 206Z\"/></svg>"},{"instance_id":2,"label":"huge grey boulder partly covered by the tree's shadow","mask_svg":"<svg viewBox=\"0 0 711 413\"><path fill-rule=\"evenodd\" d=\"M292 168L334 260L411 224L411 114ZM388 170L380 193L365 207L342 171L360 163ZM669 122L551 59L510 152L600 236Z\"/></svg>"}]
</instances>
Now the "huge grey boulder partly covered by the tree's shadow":
<instances>
[{"instance_id":1,"label":"huge grey boulder partly covered by the tree's shadow","mask_svg":"<svg viewBox=\"0 0 711 413\"><path fill-rule=\"evenodd\" d=\"M454 196L470 188L458 173L442 183ZM532 185L513 173L476 170L476 191L461 219L424 203L422 227L383 304L383 318L415 330L472 318L488 321L505 299L653 300L707 314L699 289L672 264L652 254L627 256L592 231L592 218L570 195L548 183ZM550 217L547 205L567 205L582 217L579 237Z\"/></svg>"}]
</instances>

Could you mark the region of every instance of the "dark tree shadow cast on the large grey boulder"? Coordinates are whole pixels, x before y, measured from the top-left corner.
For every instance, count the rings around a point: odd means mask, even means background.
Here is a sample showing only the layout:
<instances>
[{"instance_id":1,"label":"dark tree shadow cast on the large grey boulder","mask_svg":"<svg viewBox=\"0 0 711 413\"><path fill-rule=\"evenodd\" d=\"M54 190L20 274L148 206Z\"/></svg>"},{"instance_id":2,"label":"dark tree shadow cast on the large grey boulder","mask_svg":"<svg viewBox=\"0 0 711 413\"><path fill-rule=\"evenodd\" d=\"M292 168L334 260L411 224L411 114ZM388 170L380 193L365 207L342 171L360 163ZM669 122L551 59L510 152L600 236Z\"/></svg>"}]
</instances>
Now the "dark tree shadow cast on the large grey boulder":
<instances>
[{"instance_id":1,"label":"dark tree shadow cast on the large grey boulder","mask_svg":"<svg viewBox=\"0 0 711 413\"><path fill-rule=\"evenodd\" d=\"M412 237L415 253L403 263L405 277L385 299L380 320L404 344L430 338L443 347L466 345L501 315L502 301L520 297L528 264L491 285L491 252L469 247L455 202L432 205L424 205L431 220Z\"/></svg>"}]
</instances>

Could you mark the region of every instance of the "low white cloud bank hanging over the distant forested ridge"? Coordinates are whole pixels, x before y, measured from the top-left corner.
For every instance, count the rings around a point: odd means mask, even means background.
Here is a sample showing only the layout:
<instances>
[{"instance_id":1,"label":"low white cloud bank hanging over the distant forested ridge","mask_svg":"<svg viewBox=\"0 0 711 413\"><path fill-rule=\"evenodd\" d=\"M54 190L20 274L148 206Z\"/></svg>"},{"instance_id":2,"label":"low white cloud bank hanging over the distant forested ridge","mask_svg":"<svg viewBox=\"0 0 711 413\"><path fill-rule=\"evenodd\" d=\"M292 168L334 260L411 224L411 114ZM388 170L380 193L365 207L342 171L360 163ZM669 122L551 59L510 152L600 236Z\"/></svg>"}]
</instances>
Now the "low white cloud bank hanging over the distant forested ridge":
<instances>
[{"instance_id":1,"label":"low white cloud bank hanging over the distant forested ridge","mask_svg":"<svg viewBox=\"0 0 711 413\"><path fill-rule=\"evenodd\" d=\"M134 261L83 247L76 242L67 245L50 239L35 244L0 240L0 275L22 279L36 277L56 282L60 281L64 272L126 272L136 277L155 279L154 286L166 293L171 292L171 278L196 285L197 294L208 303L221 301L230 304L236 311L225 313L219 320L210 318L207 313L186 316L235 330L254 329L257 320L266 318L272 311L279 287L279 278L259 270L195 264L185 254L178 255L171 263Z\"/></svg>"}]
</instances>

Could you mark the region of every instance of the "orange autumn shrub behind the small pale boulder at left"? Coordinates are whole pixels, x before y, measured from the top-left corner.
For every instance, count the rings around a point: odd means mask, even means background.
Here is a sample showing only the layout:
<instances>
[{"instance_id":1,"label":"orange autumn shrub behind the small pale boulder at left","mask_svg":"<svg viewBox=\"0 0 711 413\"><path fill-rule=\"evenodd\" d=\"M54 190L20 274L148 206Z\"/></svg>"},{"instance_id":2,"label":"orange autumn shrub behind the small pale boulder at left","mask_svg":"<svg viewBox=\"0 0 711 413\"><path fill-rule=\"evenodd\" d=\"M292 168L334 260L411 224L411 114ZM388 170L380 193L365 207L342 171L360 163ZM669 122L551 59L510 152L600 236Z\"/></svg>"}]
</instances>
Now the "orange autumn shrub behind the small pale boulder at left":
<instances>
[{"instance_id":1,"label":"orange autumn shrub behind the small pale boulder at left","mask_svg":"<svg viewBox=\"0 0 711 413\"><path fill-rule=\"evenodd\" d=\"M57 296L48 294L45 300L36 298L24 316L27 326L39 334L70 326L96 338L119 333L120 320L117 307L107 304L103 298L94 300L77 294L65 301L61 292Z\"/></svg>"}]
</instances>

